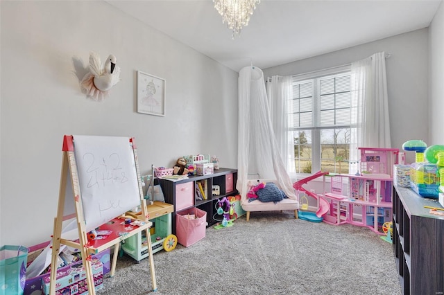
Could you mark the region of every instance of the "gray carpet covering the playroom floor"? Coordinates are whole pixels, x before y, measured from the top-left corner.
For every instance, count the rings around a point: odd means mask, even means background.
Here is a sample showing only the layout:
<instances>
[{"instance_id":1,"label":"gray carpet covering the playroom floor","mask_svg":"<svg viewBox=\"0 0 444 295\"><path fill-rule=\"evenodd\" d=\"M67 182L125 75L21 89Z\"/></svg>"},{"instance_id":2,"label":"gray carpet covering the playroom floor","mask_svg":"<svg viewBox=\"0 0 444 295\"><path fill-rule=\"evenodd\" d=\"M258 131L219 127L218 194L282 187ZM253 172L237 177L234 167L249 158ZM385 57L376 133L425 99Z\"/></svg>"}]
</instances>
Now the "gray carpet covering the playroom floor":
<instances>
[{"instance_id":1,"label":"gray carpet covering the playroom floor","mask_svg":"<svg viewBox=\"0 0 444 295\"><path fill-rule=\"evenodd\" d=\"M190 247L148 259L119 258L105 294L402 294L392 245L367 228L295 220L293 212L252 213L210 227Z\"/></svg>"}]
</instances>

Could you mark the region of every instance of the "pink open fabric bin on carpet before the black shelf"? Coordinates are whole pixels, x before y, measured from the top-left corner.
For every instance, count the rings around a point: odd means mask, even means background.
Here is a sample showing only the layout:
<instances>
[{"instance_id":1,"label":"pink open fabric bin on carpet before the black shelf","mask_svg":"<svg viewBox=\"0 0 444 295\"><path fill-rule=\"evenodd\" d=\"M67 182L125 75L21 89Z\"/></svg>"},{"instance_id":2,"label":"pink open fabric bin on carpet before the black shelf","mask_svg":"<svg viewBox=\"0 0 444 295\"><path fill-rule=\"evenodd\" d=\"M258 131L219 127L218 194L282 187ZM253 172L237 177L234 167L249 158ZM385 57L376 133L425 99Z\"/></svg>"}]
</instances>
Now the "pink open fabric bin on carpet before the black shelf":
<instances>
[{"instance_id":1,"label":"pink open fabric bin on carpet before the black shelf","mask_svg":"<svg viewBox=\"0 0 444 295\"><path fill-rule=\"evenodd\" d=\"M198 208L189 208L176 215L176 236L185 247L205 238L207 213Z\"/></svg>"}]
</instances>

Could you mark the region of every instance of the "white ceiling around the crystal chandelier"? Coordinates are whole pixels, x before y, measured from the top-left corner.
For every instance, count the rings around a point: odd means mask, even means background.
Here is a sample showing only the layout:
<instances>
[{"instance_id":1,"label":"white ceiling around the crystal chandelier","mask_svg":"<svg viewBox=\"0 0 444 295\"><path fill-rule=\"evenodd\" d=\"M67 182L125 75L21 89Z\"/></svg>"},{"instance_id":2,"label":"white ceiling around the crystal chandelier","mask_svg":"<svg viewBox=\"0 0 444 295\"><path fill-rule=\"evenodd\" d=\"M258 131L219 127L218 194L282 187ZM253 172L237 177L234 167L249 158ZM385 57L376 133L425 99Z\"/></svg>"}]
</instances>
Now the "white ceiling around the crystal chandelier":
<instances>
[{"instance_id":1,"label":"white ceiling around the crystal chandelier","mask_svg":"<svg viewBox=\"0 0 444 295\"><path fill-rule=\"evenodd\" d=\"M106 0L234 71L262 69L426 28L441 0L262 0L239 37L211 0ZM444 4L443 4L444 5Z\"/></svg>"}]
</instances>

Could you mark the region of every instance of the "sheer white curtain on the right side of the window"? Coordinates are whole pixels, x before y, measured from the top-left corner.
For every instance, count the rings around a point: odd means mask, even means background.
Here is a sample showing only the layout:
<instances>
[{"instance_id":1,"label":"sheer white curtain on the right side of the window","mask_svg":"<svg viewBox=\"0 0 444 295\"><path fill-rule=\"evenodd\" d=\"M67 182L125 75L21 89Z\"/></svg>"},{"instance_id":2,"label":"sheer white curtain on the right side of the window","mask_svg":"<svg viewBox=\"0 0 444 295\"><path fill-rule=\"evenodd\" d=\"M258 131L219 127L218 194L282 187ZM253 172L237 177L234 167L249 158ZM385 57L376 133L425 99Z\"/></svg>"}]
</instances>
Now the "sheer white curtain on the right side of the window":
<instances>
[{"instance_id":1,"label":"sheer white curtain on the right side of the window","mask_svg":"<svg viewBox=\"0 0 444 295\"><path fill-rule=\"evenodd\" d=\"M357 147L391 147L385 53L352 63L352 134L350 173L357 172Z\"/></svg>"}]
</instances>

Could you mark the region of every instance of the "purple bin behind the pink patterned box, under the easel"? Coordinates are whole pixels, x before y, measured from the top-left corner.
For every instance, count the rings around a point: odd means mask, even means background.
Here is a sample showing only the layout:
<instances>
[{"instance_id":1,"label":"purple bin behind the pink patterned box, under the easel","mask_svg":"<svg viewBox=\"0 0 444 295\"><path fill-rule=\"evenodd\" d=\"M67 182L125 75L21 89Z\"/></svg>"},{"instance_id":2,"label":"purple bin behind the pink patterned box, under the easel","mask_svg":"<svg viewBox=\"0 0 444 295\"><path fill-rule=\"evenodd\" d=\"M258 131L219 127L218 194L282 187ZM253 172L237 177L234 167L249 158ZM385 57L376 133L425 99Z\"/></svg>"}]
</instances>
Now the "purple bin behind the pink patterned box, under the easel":
<instances>
[{"instance_id":1,"label":"purple bin behind the pink patterned box, under the easel","mask_svg":"<svg viewBox=\"0 0 444 295\"><path fill-rule=\"evenodd\" d=\"M93 259L99 259L102 262L103 275L108 274L111 271L111 250L106 249L100 253L94 254ZM80 261L80 265L82 262ZM66 271L71 265L66 267L60 267L58 271ZM49 278L50 273L35 276L33 278L26 278L24 295L41 295L42 293L42 279Z\"/></svg>"}]
</instances>

